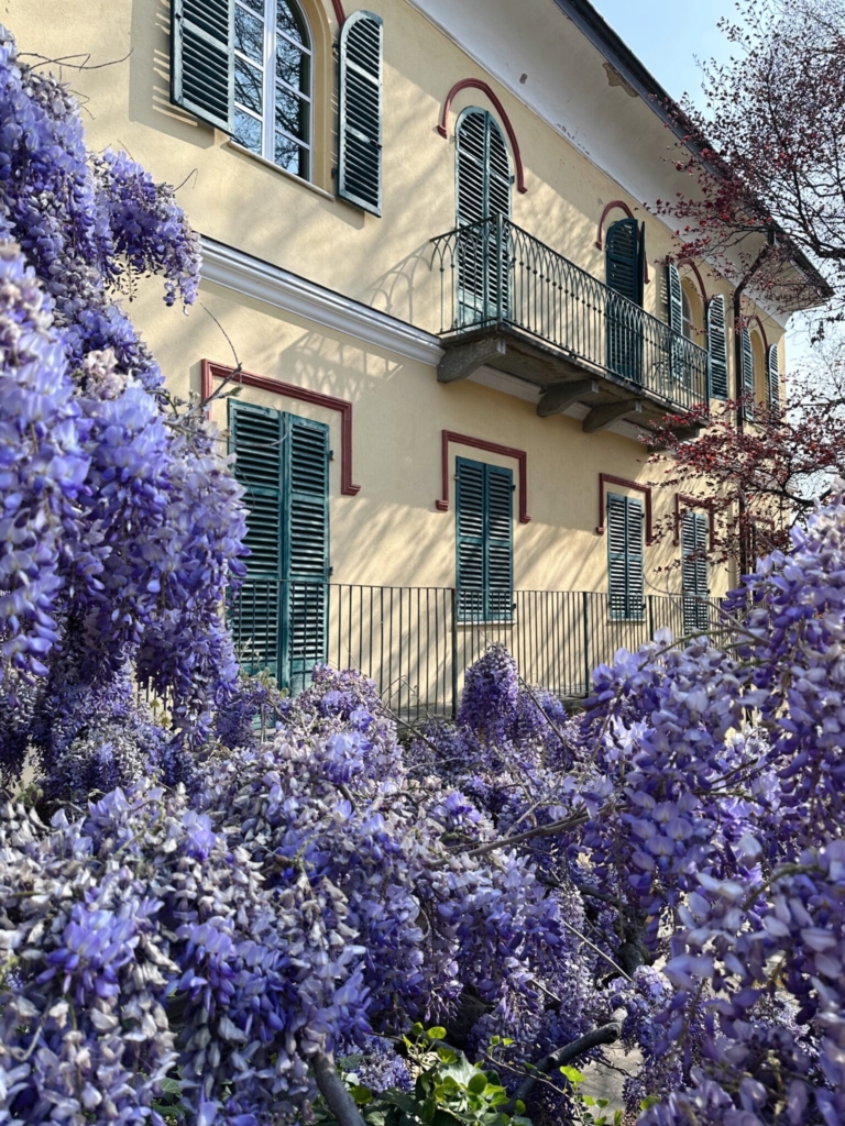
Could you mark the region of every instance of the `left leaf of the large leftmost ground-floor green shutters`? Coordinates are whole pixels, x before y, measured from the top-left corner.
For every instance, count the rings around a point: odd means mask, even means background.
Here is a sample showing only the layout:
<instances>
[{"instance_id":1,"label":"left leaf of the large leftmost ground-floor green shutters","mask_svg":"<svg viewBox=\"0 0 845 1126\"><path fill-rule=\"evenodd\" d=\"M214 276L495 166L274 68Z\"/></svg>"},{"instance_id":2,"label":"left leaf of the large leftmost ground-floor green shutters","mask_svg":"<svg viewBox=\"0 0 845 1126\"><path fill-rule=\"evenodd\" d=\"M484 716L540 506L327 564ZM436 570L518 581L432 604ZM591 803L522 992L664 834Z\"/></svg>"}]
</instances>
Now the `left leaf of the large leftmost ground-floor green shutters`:
<instances>
[{"instance_id":1,"label":"left leaf of the large leftmost ground-floor green shutters","mask_svg":"<svg viewBox=\"0 0 845 1126\"><path fill-rule=\"evenodd\" d=\"M247 577L229 607L235 653L249 673L279 673L282 435L278 411L229 400L229 449L244 488Z\"/></svg>"}]
</instances>

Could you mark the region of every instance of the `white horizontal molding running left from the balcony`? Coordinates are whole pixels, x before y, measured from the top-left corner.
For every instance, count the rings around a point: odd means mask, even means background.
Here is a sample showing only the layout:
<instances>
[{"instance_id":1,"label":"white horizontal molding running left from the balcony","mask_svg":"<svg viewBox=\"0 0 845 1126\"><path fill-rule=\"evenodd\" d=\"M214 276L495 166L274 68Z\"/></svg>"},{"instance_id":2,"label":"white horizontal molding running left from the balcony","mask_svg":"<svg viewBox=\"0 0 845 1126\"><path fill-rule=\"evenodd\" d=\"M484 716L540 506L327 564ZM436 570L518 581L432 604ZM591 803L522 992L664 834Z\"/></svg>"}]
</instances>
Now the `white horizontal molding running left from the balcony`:
<instances>
[{"instance_id":1,"label":"white horizontal molding running left from the balcony","mask_svg":"<svg viewBox=\"0 0 845 1126\"><path fill-rule=\"evenodd\" d=\"M206 235L202 236L202 244L201 276L204 282L304 316L364 343L386 348L406 359L436 367L443 356L437 337L430 332Z\"/></svg>"}]
</instances>

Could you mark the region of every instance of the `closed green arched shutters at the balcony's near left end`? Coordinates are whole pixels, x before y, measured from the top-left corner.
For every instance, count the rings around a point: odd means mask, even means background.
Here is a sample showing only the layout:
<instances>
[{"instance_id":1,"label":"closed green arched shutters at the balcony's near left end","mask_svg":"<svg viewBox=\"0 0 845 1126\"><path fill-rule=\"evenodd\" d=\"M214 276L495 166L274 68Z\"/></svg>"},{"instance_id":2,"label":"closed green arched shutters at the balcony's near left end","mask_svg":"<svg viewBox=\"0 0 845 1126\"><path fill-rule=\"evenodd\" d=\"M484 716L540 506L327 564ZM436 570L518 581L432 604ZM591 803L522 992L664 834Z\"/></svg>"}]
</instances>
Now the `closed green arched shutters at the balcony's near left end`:
<instances>
[{"instance_id":1,"label":"closed green arched shutters at the balcony's near left end","mask_svg":"<svg viewBox=\"0 0 845 1126\"><path fill-rule=\"evenodd\" d=\"M457 309L461 327L507 320L510 293L510 161L501 129L486 109L464 109L456 129Z\"/></svg>"}]
</instances>

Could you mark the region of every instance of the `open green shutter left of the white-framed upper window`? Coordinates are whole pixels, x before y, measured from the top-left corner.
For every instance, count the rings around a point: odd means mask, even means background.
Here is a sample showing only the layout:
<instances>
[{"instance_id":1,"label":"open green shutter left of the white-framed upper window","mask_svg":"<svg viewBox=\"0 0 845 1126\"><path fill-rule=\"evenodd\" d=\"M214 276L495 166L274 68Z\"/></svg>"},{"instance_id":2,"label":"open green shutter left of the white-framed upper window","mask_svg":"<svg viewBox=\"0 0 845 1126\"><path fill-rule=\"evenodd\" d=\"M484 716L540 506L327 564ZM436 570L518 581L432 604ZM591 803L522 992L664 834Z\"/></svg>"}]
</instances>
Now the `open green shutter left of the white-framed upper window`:
<instances>
[{"instance_id":1,"label":"open green shutter left of the white-framed upper window","mask_svg":"<svg viewBox=\"0 0 845 1126\"><path fill-rule=\"evenodd\" d=\"M233 0L171 0L170 100L234 129Z\"/></svg>"}]
</instances>

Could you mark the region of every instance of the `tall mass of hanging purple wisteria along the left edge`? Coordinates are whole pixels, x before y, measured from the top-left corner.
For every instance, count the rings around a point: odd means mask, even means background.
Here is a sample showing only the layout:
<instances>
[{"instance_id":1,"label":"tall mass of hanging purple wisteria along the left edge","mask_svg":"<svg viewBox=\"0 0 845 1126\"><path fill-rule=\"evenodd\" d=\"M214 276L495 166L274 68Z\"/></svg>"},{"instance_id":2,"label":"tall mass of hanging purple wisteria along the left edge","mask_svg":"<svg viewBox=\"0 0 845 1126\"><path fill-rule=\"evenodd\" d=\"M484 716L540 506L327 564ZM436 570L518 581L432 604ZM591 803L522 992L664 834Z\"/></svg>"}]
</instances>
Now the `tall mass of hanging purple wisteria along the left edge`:
<instances>
[{"instance_id":1,"label":"tall mass of hanging purple wisteria along the left edge","mask_svg":"<svg viewBox=\"0 0 845 1126\"><path fill-rule=\"evenodd\" d=\"M90 155L74 99L0 28L7 779L28 748L56 795L131 781L148 761L184 777L233 688L220 605L242 569L239 490L116 300L154 274L168 304L189 304L198 269L172 190L124 153ZM134 712L131 674L172 703L167 739Z\"/></svg>"}]
</instances>

